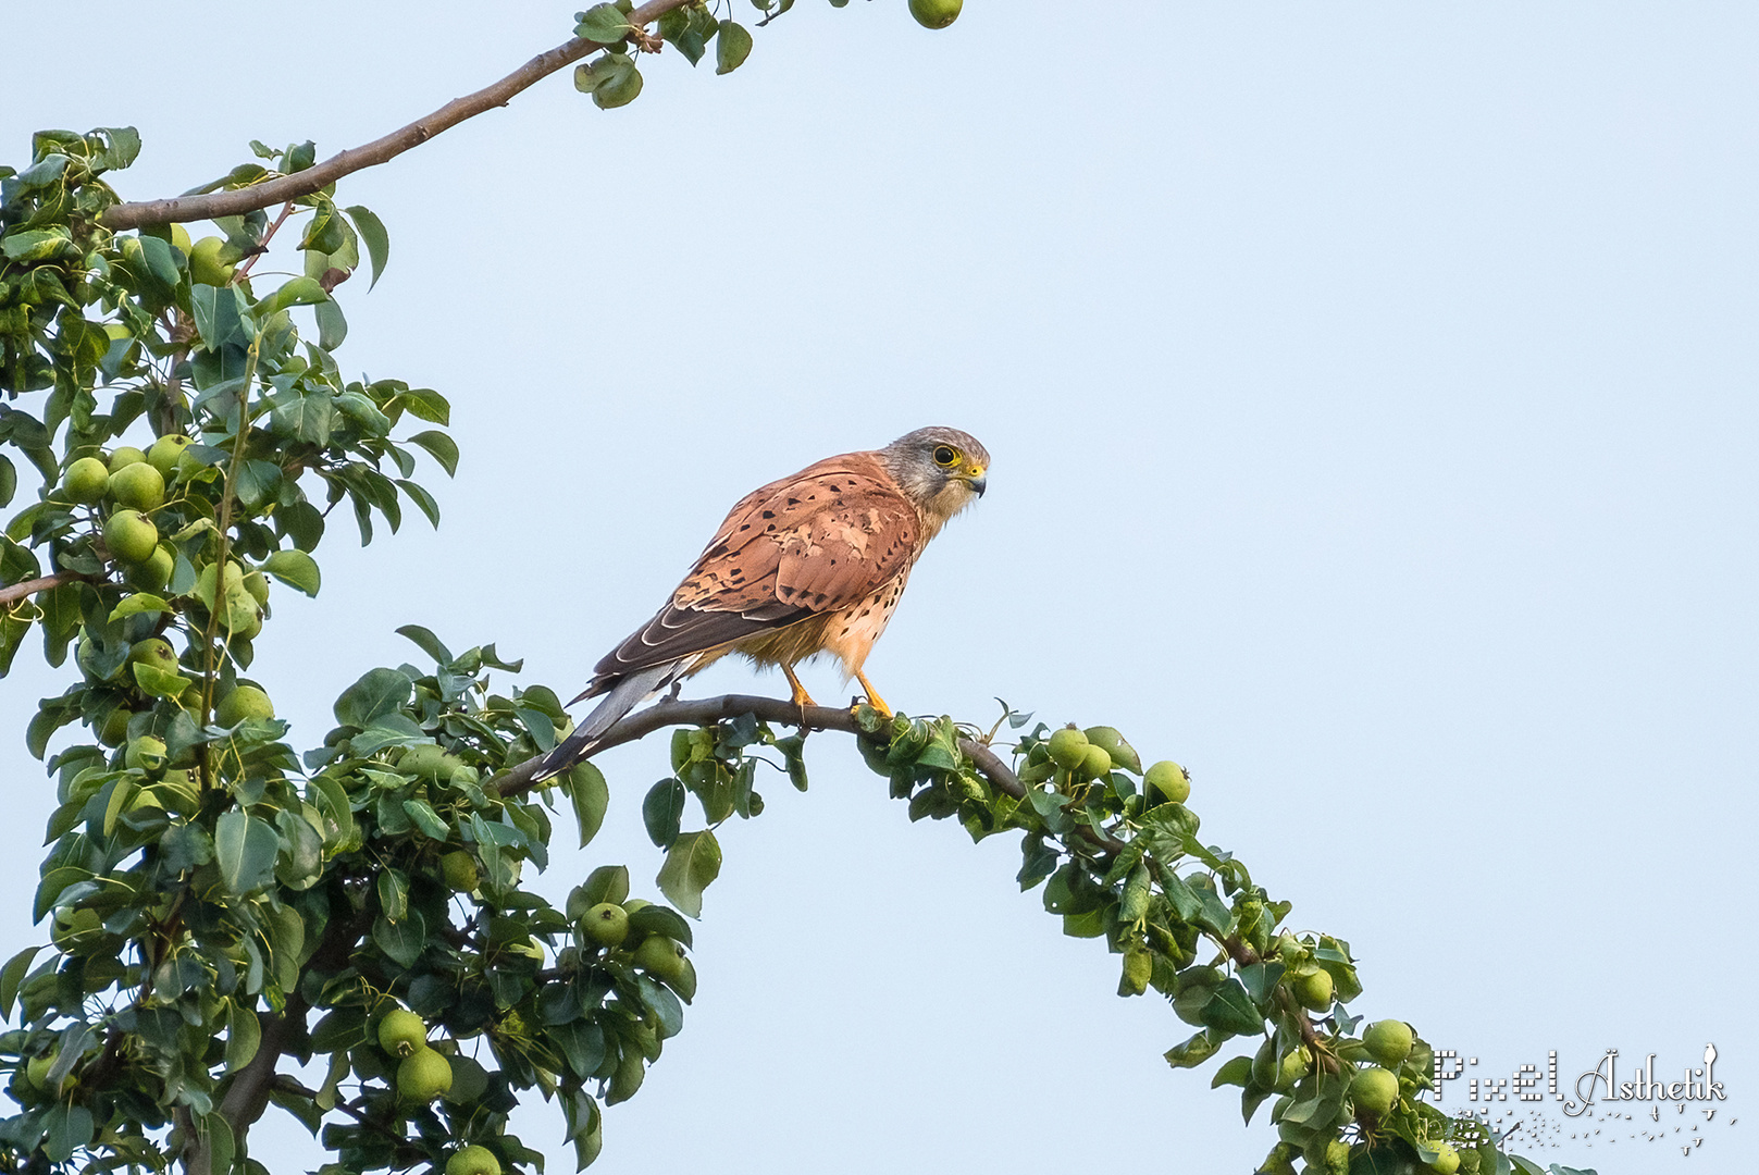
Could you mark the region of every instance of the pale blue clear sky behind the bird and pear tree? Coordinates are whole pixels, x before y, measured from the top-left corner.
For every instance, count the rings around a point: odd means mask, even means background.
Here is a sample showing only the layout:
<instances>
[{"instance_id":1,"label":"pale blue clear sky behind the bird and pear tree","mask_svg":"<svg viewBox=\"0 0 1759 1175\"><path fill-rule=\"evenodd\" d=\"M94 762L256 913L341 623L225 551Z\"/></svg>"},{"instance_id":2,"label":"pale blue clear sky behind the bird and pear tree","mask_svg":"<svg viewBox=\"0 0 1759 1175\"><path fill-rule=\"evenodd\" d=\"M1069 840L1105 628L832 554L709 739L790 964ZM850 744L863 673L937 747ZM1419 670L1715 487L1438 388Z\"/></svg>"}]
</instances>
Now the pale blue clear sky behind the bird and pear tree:
<instances>
[{"instance_id":1,"label":"pale blue clear sky behind the bird and pear tree","mask_svg":"<svg viewBox=\"0 0 1759 1175\"><path fill-rule=\"evenodd\" d=\"M12 4L0 158L134 123L118 183L153 197L252 137L329 155L570 14ZM614 113L554 77L345 181L392 262L345 287L341 359L450 396L464 463L438 535L339 535L318 602L276 595L257 675L304 744L361 670L415 656L403 623L572 690L753 485L967 429L990 493L869 663L890 702L982 719L999 695L1186 762L1205 836L1356 946L1358 1010L1486 1075L1555 1048L1569 1078L1609 1047L1678 1069L1715 1041L1731 1112L1690 1159L1611 1126L1539 1157L1738 1170L1755 60L1738 4L967 0L927 33L904 0L802 0L732 77L667 55ZM63 684L0 684L11 726ZM693 693L753 686L785 688L723 665ZM9 955L39 936L51 788L19 735L0 762L26 832ZM909 825L839 737L809 763L807 795L772 783L721 837L702 994L609 1112L603 1170L1263 1156L1263 1120L1161 1062L1189 1029L1117 999L1117 960L1017 892L1011 837ZM605 767L610 823L551 894L658 869L637 807L665 748ZM572 1170L559 1115L521 1128ZM253 1136L276 1175L315 1163L278 1131Z\"/></svg>"}]
</instances>

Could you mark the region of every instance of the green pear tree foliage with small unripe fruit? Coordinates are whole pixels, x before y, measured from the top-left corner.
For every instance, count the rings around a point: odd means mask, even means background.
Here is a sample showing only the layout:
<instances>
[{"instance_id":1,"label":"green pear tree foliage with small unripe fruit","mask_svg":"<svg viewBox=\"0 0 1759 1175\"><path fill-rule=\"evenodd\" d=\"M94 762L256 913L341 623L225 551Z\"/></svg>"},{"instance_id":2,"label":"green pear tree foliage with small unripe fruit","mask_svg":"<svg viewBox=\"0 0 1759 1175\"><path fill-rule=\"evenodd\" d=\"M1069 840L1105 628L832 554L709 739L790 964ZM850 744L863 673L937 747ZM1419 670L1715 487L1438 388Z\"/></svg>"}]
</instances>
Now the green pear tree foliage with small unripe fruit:
<instances>
[{"instance_id":1,"label":"green pear tree foliage with small unripe fruit","mask_svg":"<svg viewBox=\"0 0 1759 1175\"><path fill-rule=\"evenodd\" d=\"M790 5L758 7L767 21ZM602 51L575 84L602 107L640 91L631 53L660 40L691 63L712 46L718 72L751 51L749 32L709 5L674 5L658 39L631 11L577 16ZM317 160L310 142L252 148L253 162L202 190ZM547 864L552 804L568 802L586 846L609 788L591 763L535 793L512 783L508 769L552 748L568 718L544 686L496 691L491 675L519 665L493 646L454 654L399 630L431 667L369 668L322 744L297 753L246 675L271 580L318 595L315 552L345 501L362 544L380 524L398 531L406 503L438 526L417 452L456 470L450 410L434 390L348 380L336 362L338 288L362 262L376 280L389 257L373 213L318 186L273 220L220 218L199 241L171 223L113 232L106 176L137 150L130 128L42 132L28 167L0 167L0 445L12 454L0 454L0 505L37 478L0 536L0 674L33 631L51 667L76 653L72 684L26 732L58 807L33 899L49 943L0 969L0 1013L18 1013L0 1034L18 1105L0 1120L0 1168L262 1175L250 1128L271 1103L332 1152L327 1171L542 1166L507 1133L533 1089L558 1101L586 1166L602 1106L633 1096L682 1027L697 989L682 915L700 916L719 872L718 828L763 811L763 755L806 788L804 732L777 735L756 716L674 732L672 774L642 804L672 906L631 897L623 865L596 869L563 909L521 887L528 864ZM285 234L301 273L255 276ZM1247 1122L1277 1098L1263 1170L1442 1170L1444 1145L1462 1171L1536 1170L1416 1099L1421 1040L1381 1057L1391 1105L1363 1105L1351 1082L1372 1066L1346 1011L1361 990L1349 946L1286 929L1289 906L1198 841L1177 765L1143 772L1105 728L1040 726L1010 769L989 749L994 732L855 718L862 756L911 818L957 818L974 839L1022 832L1022 888L1043 887L1064 932L1120 957L1120 996L1152 989L1198 1029L1170 1064L1249 1043L1212 1084L1242 1089ZM704 823L686 830L690 797ZM283 1055L322 1057L325 1080L278 1073Z\"/></svg>"}]
</instances>

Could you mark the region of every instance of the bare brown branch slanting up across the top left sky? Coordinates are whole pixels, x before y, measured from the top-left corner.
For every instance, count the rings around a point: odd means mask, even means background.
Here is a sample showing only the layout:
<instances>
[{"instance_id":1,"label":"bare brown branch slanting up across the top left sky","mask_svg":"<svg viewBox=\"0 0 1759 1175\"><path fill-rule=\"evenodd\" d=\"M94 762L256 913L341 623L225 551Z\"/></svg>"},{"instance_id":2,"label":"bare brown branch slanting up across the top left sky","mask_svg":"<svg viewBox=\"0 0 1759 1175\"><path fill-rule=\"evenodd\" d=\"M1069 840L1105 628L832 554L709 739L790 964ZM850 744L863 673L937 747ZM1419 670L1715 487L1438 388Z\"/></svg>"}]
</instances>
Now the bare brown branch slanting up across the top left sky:
<instances>
[{"instance_id":1,"label":"bare brown branch slanting up across the top left sky","mask_svg":"<svg viewBox=\"0 0 1759 1175\"><path fill-rule=\"evenodd\" d=\"M672 9L681 9L686 4L691 4L691 0L647 0L647 4L630 12L630 25L635 28L646 28ZM565 40L549 53L536 55L491 86L484 86L475 93L466 93L461 99L452 99L433 114L417 118L401 130L392 130L389 135L373 139L364 146L348 148L341 155L332 155L322 164L290 176L280 176L276 179L269 179L267 183L257 183L248 188L234 188L230 192L176 195L164 201L114 204L104 211L100 220L104 222L104 227L111 230L139 229L141 225L164 225L181 220L237 216L259 208L269 208L271 204L281 204L311 195L313 192L336 183L343 176L357 172L364 167L376 167L378 164L390 162L410 148L427 142L442 130L450 130L468 118L507 106L515 95L529 88L533 83L549 77L556 70L573 65L580 58L603 47L605 46L596 40L582 40L580 37Z\"/></svg>"}]
</instances>

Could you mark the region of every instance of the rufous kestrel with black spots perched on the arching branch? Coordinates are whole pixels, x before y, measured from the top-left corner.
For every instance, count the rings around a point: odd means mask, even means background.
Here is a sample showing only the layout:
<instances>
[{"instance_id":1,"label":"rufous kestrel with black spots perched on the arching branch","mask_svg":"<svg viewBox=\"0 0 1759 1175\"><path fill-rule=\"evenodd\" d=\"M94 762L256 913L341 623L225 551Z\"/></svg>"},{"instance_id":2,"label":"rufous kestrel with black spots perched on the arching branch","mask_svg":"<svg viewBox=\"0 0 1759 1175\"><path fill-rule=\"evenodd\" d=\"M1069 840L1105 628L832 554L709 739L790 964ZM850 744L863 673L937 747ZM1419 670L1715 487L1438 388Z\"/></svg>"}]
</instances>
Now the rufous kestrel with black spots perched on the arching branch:
<instances>
[{"instance_id":1,"label":"rufous kestrel with black spots perched on the arching branch","mask_svg":"<svg viewBox=\"0 0 1759 1175\"><path fill-rule=\"evenodd\" d=\"M741 498L658 616L593 670L573 702L605 700L544 756L533 779L579 763L619 718L728 653L779 667L795 705L813 698L793 667L830 653L862 682L867 704L890 714L862 663L909 568L948 519L983 496L987 470L989 452L974 436L927 427L885 449L827 457Z\"/></svg>"}]
</instances>

